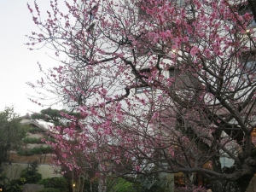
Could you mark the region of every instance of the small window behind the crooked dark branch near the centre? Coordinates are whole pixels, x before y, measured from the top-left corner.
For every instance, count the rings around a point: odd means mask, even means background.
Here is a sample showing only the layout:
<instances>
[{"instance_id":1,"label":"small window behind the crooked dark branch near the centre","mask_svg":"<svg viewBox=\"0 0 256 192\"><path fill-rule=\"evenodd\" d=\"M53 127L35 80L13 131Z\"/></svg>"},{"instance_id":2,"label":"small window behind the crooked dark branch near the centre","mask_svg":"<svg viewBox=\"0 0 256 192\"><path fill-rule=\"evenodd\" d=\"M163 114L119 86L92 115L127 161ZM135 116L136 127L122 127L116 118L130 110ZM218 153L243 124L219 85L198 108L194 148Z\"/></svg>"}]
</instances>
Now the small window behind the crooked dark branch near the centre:
<instances>
[{"instance_id":1,"label":"small window behind the crooked dark branch near the centre","mask_svg":"<svg viewBox=\"0 0 256 192\"><path fill-rule=\"evenodd\" d=\"M148 82L148 77L150 75L150 69L149 68L143 68L138 71L138 73L141 75L142 79ZM142 93L143 90L152 90L152 87L149 87L148 84L144 84L140 79L137 77L135 78L135 83L137 84L137 87L135 89L135 93ZM153 82L148 82L148 83L153 83Z\"/></svg>"}]
</instances>

